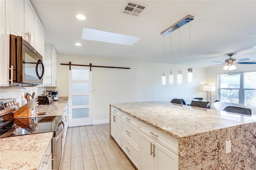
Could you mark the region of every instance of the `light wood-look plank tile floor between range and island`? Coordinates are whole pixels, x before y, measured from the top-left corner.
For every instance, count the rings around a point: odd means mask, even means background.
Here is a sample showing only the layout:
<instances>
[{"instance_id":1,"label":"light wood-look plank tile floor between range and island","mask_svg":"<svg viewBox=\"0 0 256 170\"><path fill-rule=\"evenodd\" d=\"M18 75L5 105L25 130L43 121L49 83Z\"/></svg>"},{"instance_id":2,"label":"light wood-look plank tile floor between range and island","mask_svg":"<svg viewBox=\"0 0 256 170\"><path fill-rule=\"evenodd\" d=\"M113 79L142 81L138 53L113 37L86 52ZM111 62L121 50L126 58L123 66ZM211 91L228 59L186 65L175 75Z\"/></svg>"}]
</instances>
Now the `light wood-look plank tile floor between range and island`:
<instances>
[{"instance_id":1,"label":"light wood-look plank tile floor between range and island","mask_svg":"<svg viewBox=\"0 0 256 170\"><path fill-rule=\"evenodd\" d=\"M60 170L134 170L113 139L109 123L68 128Z\"/></svg>"}]
</instances>

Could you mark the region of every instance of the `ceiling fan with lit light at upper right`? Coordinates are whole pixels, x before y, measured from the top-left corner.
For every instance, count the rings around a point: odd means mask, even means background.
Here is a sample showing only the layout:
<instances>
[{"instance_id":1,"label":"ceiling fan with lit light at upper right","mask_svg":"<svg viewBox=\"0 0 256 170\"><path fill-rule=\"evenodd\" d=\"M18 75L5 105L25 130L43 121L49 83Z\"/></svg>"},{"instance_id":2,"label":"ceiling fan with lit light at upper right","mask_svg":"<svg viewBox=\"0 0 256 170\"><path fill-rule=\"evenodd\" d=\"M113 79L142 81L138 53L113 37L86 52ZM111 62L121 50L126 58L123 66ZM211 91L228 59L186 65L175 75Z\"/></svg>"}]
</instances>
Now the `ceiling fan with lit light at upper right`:
<instances>
[{"instance_id":1,"label":"ceiling fan with lit light at upper right","mask_svg":"<svg viewBox=\"0 0 256 170\"><path fill-rule=\"evenodd\" d=\"M212 62L217 62L217 63L222 63L222 64L215 64L215 65L223 65L226 64L225 67L223 67L223 69L225 70L234 70L236 69L236 66L234 66L233 64L256 64L256 62L241 62L241 61L248 61L250 59L248 58L244 58L244 59L234 59L231 58L232 55L234 55L234 53L230 53L228 54L228 56L230 57L229 59L226 59L225 62L220 62L220 61L212 61ZM213 65L208 65L208 66L213 66Z\"/></svg>"}]
</instances>

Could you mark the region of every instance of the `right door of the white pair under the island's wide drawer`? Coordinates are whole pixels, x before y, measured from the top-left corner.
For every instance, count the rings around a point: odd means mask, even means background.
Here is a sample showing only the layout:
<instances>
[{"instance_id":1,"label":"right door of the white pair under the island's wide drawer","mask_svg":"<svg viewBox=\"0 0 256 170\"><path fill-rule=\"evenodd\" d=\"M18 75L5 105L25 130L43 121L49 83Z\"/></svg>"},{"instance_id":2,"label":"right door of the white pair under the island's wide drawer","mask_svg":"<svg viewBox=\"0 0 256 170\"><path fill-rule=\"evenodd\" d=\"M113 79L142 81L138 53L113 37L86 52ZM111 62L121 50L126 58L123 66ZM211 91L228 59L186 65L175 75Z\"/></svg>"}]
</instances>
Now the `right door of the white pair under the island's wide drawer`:
<instances>
[{"instance_id":1,"label":"right door of the white pair under the island's wide drawer","mask_svg":"<svg viewBox=\"0 0 256 170\"><path fill-rule=\"evenodd\" d=\"M155 170L178 170L178 155L155 142Z\"/></svg>"}]
</instances>

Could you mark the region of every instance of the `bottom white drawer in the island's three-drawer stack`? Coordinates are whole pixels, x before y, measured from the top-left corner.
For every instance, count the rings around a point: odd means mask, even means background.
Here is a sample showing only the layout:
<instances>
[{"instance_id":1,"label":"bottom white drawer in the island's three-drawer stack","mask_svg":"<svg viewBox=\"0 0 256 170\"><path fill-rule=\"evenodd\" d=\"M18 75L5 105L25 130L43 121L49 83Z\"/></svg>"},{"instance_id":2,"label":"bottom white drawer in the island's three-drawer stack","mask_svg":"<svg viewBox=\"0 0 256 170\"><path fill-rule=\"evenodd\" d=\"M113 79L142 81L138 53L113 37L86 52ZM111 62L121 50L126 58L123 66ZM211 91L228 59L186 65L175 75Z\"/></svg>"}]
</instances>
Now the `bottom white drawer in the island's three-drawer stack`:
<instances>
[{"instance_id":1,"label":"bottom white drawer in the island's three-drawer stack","mask_svg":"<svg viewBox=\"0 0 256 170\"><path fill-rule=\"evenodd\" d=\"M138 168L139 163L139 150L135 148L128 140L122 135L122 150Z\"/></svg>"}]
</instances>

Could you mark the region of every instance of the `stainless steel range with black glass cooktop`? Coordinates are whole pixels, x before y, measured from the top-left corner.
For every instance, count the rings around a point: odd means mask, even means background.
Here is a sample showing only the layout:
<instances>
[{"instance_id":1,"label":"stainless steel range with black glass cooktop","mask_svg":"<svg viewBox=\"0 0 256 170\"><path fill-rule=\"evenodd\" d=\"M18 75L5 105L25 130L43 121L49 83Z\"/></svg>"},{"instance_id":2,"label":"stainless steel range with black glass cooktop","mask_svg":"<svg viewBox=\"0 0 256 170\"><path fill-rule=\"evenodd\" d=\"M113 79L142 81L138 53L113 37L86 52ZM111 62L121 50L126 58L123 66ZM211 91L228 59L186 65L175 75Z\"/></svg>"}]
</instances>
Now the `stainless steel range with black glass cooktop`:
<instances>
[{"instance_id":1,"label":"stainless steel range with black glass cooktop","mask_svg":"<svg viewBox=\"0 0 256 170\"><path fill-rule=\"evenodd\" d=\"M52 169L58 170L62 155L62 134L64 132L64 122L61 116L44 116L15 118L14 110L16 107L9 107L6 101L0 100L0 138L36 134L44 132L54 132L52 138Z\"/></svg>"}]
</instances>

